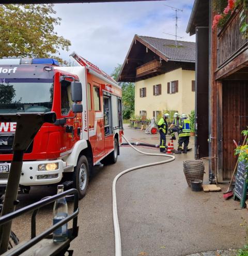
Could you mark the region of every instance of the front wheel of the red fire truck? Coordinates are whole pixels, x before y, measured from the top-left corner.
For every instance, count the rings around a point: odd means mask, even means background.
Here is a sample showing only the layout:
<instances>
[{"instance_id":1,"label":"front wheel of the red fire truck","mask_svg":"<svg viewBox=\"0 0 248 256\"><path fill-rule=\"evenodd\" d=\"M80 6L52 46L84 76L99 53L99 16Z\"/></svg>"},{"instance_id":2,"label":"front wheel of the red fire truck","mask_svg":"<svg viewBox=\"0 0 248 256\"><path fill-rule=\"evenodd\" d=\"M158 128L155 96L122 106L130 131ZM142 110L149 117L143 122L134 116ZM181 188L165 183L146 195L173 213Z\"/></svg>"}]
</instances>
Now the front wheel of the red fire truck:
<instances>
[{"instance_id":1,"label":"front wheel of the red fire truck","mask_svg":"<svg viewBox=\"0 0 248 256\"><path fill-rule=\"evenodd\" d=\"M89 183L89 164L86 156L81 156L77 160L76 167L73 172L73 187L79 191L79 199L82 199L86 194L86 189Z\"/></svg>"}]
</instances>

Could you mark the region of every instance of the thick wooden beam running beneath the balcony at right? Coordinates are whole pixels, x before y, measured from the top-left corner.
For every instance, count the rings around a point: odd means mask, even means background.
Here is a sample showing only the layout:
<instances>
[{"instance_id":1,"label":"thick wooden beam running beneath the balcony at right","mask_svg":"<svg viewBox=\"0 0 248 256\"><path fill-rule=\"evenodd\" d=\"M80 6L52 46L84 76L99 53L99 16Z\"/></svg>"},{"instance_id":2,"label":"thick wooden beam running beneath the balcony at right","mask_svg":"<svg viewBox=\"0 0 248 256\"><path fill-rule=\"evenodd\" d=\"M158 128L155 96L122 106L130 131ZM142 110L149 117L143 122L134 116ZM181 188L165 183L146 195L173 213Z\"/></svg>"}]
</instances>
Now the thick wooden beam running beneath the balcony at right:
<instances>
[{"instance_id":1,"label":"thick wooden beam running beneath the balcony at right","mask_svg":"<svg viewBox=\"0 0 248 256\"><path fill-rule=\"evenodd\" d=\"M232 59L231 62L226 64L223 68L215 72L215 80L223 79L230 74L235 73L239 69L246 67L248 64L248 49L239 54L236 58Z\"/></svg>"}]
</instances>

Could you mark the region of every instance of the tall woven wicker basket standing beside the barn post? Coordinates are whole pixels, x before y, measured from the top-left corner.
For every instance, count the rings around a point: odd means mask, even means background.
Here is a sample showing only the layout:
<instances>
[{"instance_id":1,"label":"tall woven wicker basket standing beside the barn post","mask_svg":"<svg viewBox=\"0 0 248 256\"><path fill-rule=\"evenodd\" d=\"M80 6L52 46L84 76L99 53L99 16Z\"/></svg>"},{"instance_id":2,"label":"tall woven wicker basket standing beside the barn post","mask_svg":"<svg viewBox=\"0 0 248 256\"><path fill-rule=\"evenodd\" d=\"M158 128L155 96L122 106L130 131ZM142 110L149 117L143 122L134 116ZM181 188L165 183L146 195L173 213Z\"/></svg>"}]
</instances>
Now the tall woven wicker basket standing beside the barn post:
<instances>
[{"instance_id":1,"label":"tall woven wicker basket standing beside the barn post","mask_svg":"<svg viewBox=\"0 0 248 256\"><path fill-rule=\"evenodd\" d=\"M203 180L204 162L202 160L183 161L183 172L189 187L191 187L192 179Z\"/></svg>"}]
</instances>

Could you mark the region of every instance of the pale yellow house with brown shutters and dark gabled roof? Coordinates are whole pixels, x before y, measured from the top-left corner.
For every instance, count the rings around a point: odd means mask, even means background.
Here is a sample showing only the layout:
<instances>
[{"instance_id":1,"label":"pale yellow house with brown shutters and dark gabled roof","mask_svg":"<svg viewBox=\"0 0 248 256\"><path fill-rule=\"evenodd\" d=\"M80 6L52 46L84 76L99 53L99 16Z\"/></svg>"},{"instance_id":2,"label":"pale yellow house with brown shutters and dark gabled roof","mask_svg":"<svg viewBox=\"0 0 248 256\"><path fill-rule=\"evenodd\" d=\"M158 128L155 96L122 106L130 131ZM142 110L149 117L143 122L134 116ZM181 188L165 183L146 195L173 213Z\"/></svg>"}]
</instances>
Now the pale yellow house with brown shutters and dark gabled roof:
<instances>
[{"instance_id":1,"label":"pale yellow house with brown shutters and dark gabled roof","mask_svg":"<svg viewBox=\"0 0 248 256\"><path fill-rule=\"evenodd\" d=\"M135 115L195 109L195 43L134 36L118 81L135 82Z\"/></svg>"}]
</instances>

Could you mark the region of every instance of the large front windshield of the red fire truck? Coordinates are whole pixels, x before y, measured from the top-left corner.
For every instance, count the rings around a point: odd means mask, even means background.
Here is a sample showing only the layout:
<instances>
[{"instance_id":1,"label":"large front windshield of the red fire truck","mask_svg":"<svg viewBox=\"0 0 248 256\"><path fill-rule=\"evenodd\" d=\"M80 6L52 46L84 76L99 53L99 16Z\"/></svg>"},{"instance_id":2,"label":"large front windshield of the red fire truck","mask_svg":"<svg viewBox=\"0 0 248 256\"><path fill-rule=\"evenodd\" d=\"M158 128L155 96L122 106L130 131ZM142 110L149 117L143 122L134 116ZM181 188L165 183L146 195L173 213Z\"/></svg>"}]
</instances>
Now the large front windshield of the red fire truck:
<instances>
[{"instance_id":1,"label":"large front windshield of the red fire truck","mask_svg":"<svg viewBox=\"0 0 248 256\"><path fill-rule=\"evenodd\" d=\"M49 112L52 79L0 79L0 113Z\"/></svg>"}]
</instances>

